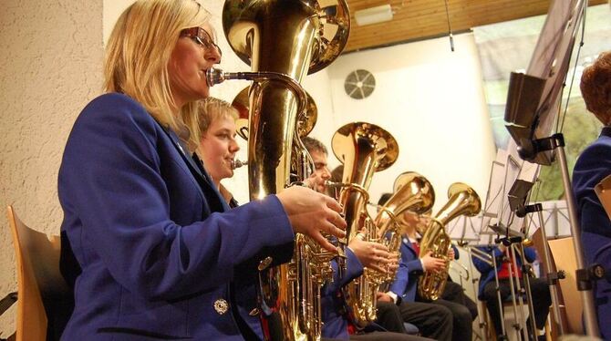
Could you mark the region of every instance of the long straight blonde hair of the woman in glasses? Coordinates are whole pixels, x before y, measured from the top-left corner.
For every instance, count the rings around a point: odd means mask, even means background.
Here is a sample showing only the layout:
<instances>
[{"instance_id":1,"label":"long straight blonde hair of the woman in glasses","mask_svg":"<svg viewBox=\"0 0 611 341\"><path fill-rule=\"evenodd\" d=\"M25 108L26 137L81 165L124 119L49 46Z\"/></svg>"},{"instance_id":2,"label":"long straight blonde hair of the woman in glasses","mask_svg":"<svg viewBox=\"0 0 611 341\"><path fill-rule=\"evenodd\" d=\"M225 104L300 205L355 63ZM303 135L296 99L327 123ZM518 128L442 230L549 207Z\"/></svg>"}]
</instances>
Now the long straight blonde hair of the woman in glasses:
<instances>
[{"instance_id":1,"label":"long straight blonde hair of the woman in glasses","mask_svg":"<svg viewBox=\"0 0 611 341\"><path fill-rule=\"evenodd\" d=\"M184 28L203 26L210 14L194 0L138 0L120 15L109 37L104 88L139 101L161 125L176 131L190 148L197 134L181 134L196 117L197 102L173 115L168 62ZM188 136L186 136L188 135Z\"/></svg>"}]
</instances>

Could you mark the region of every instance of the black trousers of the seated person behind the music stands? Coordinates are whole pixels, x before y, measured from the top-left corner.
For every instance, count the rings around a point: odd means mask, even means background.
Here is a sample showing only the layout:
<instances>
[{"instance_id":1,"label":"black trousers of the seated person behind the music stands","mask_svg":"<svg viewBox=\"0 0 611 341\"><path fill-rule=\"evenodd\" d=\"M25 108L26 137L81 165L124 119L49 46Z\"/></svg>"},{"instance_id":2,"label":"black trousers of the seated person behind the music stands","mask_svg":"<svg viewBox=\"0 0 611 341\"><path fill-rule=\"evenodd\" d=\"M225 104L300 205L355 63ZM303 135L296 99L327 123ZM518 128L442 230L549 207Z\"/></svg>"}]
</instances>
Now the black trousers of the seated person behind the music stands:
<instances>
[{"instance_id":1,"label":"black trousers of the seated person behind the music stands","mask_svg":"<svg viewBox=\"0 0 611 341\"><path fill-rule=\"evenodd\" d=\"M534 322L537 328L543 329L545 320L547 319L547 313L549 312L549 306L552 304L550 288L547 282L542 278L530 278L530 283L531 294L533 296ZM520 280L520 284L524 287L523 279ZM482 300L486 302L488 313L494 324L494 330L496 334L500 336L502 333L501 311L499 310L499 301L496 296L495 287L496 282L494 280L487 283L483 288ZM501 300L503 302L512 294L509 279L502 279L499 281L499 292L501 293Z\"/></svg>"}]
</instances>

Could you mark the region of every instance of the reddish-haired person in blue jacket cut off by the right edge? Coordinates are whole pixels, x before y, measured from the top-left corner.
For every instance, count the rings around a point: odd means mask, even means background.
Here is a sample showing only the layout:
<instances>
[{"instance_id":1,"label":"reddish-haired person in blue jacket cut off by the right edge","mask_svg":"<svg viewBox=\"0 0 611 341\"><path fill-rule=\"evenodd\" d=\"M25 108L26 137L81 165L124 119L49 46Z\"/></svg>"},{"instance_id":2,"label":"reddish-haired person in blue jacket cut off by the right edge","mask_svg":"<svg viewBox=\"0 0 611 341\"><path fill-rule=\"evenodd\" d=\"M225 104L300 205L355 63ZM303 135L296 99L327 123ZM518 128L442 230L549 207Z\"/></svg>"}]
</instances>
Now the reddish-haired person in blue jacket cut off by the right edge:
<instances>
[{"instance_id":1,"label":"reddish-haired person in blue jacket cut off by the right edge","mask_svg":"<svg viewBox=\"0 0 611 341\"><path fill-rule=\"evenodd\" d=\"M585 67L581 78L585 108L605 127L598 140L579 156L573 170L573 190L582 229L585 261L600 263L611 271L611 221L595 194L595 185L611 174L611 51L601 53L594 64ZM608 278L608 277L607 277ZM611 337L611 283L595 283L598 325L604 339Z\"/></svg>"}]
</instances>

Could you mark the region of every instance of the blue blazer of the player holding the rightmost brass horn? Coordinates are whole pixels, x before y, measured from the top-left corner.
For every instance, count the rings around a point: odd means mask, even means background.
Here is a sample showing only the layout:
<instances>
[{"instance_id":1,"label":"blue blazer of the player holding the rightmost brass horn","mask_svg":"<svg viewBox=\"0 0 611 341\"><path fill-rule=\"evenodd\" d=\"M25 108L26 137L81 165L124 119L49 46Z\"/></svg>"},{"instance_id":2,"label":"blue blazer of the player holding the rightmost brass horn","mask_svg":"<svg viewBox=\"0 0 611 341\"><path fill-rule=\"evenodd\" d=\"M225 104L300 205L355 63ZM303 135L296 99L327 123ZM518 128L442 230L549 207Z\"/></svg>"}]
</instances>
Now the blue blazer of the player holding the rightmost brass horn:
<instances>
[{"instance_id":1,"label":"blue blazer of the player holding the rightmost brass horn","mask_svg":"<svg viewBox=\"0 0 611 341\"><path fill-rule=\"evenodd\" d=\"M395 281L390 284L390 291L405 302L416 301L418 277L423 274L422 262L407 237L403 237L400 246L401 259Z\"/></svg>"}]
</instances>

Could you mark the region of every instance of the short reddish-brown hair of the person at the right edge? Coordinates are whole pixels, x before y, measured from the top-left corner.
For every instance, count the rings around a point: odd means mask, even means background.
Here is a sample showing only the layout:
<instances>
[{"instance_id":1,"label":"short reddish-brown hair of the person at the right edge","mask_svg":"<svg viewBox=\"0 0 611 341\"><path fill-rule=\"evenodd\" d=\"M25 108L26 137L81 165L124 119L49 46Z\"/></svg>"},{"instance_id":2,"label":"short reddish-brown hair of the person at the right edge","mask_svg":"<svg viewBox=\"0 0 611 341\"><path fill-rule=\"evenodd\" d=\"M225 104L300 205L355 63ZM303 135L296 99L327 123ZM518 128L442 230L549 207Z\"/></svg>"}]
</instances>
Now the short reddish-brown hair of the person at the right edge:
<instances>
[{"instance_id":1,"label":"short reddish-brown hair of the person at the right edge","mask_svg":"<svg viewBox=\"0 0 611 341\"><path fill-rule=\"evenodd\" d=\"M585 109L603 124L611 124L611 52L601 53L581 76L581 95Z\"/></svg>"}]
</instances>

